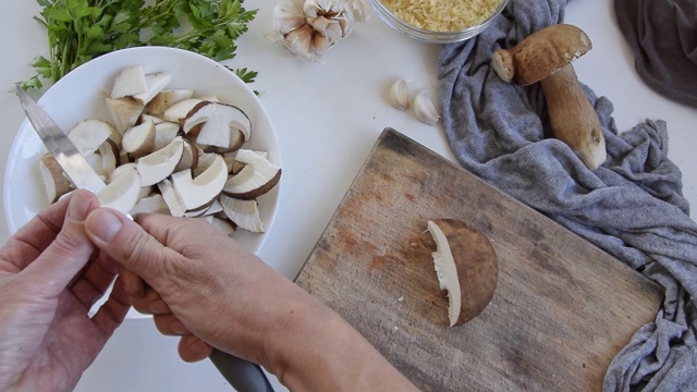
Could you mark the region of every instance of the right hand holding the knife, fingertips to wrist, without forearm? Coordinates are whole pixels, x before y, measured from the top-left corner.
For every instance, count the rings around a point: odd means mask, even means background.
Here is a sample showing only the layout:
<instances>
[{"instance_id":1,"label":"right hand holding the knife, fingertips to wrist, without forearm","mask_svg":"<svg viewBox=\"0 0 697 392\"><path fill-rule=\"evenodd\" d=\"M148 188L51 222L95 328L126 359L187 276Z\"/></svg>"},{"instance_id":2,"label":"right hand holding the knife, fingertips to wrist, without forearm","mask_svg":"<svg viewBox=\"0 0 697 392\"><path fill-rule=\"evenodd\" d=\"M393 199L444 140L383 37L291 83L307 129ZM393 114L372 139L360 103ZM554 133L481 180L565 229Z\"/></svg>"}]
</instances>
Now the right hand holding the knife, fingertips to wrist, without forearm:
<instances>
[{"instance_id":1,"label":"right hand holding the knife, fingertips to wrist, without forearm","mask_svg":"<svg viewBox=\"0 0 697 392\"><path fill-rule=\"evenodd\" d=\"M207 357L212 345L270 365L265 338L274 334L283 315L294 311L293 298L304 306L306 293L204 220L161 215L135 219L137 224L98 209L86 220L90 240L144 279L145 285L133 275L124 279L134 307L152 314L163 334L182 336L184 360Z\"/></svg>"}]
</instances>

